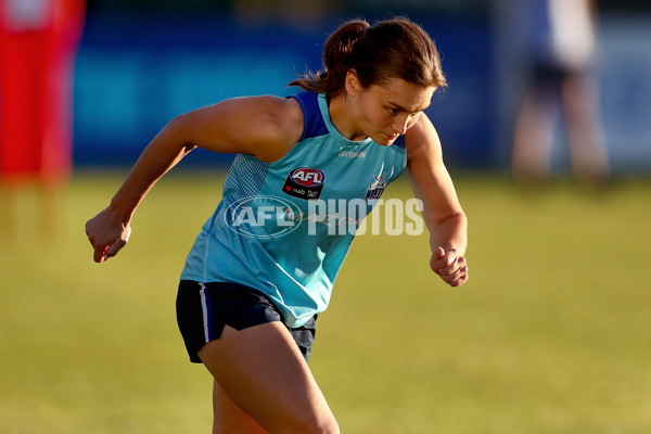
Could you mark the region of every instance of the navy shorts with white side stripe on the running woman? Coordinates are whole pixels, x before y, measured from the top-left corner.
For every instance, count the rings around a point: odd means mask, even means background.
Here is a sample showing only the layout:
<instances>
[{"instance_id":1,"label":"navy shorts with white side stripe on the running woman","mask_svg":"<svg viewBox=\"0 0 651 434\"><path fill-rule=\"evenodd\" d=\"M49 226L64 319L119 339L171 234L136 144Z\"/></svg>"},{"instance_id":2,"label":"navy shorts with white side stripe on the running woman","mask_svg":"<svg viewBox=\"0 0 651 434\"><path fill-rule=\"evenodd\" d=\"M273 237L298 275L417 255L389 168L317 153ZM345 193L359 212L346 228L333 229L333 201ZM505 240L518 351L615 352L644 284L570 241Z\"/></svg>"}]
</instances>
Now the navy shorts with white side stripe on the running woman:
<instances>
[{"instance_id":1,"label":"navy shorts with white side stripe on the running woman","mask_svg":"<svg viewBox=\"0 0 651 434\"><path fill-rule=\"evenodd\" d=\"M281 321L271 301L261 292L238 283L199 283L181 280L176 302L177 322L186 343L190 361L201 363L196 355L208 342L219 339L225 326L235 330ZM304 326L290 333L305 361L309 359L316 335L315 315Z\"/></svg>"}]
</instances>

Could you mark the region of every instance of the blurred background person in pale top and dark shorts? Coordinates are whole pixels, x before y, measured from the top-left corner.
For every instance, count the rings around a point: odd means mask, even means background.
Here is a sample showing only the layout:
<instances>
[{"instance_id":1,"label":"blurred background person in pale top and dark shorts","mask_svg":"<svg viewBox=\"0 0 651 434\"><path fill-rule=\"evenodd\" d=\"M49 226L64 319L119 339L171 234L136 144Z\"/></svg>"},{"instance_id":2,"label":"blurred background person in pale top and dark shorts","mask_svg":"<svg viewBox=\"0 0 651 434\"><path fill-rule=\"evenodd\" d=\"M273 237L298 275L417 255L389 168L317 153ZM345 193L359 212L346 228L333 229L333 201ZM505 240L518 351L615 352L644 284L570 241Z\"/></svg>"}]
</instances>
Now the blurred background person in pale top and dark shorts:
<instances>
[{"instance_id":1,"label":"blurred background person in pale top and dark shorts","mask_svg":"<svg viewBox=\"0 0 651 434\"><path fill-rule=\"evenodd\" d=\"M518 0L526 89L516 118L512 170L523 183L550 177L557 125L564 115L575 178L587 187L609 178L599 111L595 0Z\"/></svg>"}]
</instances>

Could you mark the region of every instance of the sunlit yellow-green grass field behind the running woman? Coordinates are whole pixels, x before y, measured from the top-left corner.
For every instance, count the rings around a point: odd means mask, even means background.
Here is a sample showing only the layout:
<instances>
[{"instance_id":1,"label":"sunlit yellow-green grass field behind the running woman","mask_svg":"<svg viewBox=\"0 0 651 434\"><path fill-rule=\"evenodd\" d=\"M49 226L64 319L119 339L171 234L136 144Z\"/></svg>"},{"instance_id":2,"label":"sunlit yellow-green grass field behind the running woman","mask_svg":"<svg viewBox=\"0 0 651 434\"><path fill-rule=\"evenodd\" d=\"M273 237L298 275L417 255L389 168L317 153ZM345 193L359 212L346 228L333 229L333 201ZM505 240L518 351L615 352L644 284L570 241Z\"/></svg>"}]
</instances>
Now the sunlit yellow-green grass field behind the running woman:
<instances>
[{"instance_id":1,"label":"sunlit yellow-green grass field behind the running woman","mask_svg":"<svg viewBox=\"0 0 651 434\"><path fill-rule=\"evenodd\" d=\"M0 432L208 433L212 380L190 365L176 283L220 175L170 174L95 265L86 219L124 174L78 174L60 233L0 241ZM651 182L532 199L459 176L470 282L427 268L427 237L353 244L310 361L344 433L650 433ZM410 196L406 183L387 196Z\"/></svg>"}]
</instances>

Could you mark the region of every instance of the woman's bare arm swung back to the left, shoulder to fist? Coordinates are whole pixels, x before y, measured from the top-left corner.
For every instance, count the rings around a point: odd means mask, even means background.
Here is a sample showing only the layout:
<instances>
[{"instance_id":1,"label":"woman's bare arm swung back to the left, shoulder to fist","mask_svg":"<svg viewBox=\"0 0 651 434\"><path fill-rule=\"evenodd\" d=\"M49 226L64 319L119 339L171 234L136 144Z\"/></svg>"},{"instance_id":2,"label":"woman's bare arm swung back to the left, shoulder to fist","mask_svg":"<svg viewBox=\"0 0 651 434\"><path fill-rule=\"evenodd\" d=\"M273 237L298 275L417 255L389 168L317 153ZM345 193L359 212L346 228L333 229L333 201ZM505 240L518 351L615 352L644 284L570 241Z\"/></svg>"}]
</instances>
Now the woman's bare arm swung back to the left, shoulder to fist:
<instances>
[{"instance_id":1,"label":"woman's bare arm swung back to the left, shoulder to fist","mask_svg":"<svg viewBox=\"0 0 651 434\"><path fill-rule=\"evenodd\" d=\"M86 224L93 260L107 260L126 245L140 202L196 146L271 163L286 154L302 132L303 114L294 99L232 99L177 116L149 143L110 205Z\"/></svg>"}]
</instances>

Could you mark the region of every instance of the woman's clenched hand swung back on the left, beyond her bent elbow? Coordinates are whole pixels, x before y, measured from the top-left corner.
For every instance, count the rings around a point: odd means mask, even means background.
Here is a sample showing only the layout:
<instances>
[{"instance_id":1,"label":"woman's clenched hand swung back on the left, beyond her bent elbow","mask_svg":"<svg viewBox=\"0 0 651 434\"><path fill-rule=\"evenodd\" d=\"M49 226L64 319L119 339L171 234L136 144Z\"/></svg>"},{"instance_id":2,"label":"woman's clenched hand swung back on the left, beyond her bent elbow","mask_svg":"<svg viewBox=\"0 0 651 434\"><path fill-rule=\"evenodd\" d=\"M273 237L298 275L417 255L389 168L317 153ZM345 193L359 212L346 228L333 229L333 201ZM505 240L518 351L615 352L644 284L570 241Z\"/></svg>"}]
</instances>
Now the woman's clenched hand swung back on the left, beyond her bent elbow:
<instances>
[{"instance_id":1,"label":"woman's clenched hand swung back on the left, beyond her bent elbow","mask_svg":"<svg viewBox=\"0 0 651 434\"><path fill-rule=\"evenodd\" d=\"M110 208L86 222L86 234L92 245L94 253L92 259L95 263L108 260L112 256L127 244L131 234L129 224L124 224Z\"/></svg>"}]
</instances>

